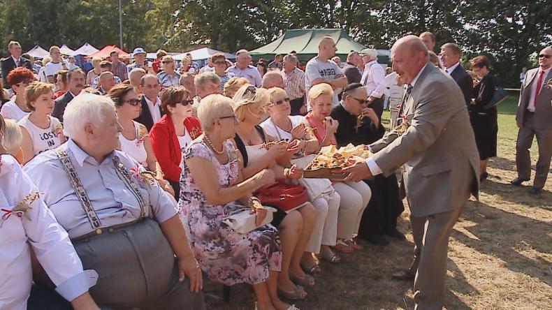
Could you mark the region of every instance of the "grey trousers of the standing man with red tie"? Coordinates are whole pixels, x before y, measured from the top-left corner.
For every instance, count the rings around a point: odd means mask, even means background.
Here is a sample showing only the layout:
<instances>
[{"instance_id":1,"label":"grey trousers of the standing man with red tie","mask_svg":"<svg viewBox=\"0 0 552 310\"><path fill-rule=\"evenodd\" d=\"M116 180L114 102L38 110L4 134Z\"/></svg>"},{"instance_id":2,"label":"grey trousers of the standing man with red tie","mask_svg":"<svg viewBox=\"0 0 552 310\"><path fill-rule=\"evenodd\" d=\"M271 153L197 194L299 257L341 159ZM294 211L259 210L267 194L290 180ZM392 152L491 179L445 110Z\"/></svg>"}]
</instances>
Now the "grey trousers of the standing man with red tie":
<instances>
[{"instance_id":1,"label":"grey trousers of the standing man with red tie","mask_svg":"<svg viewBox=\"0 0 552 310\"><path fill-rule=\"evenodd\" d=\"M537 136L537 145L539 146L539 159L537 160L535 180L533 186L542 189L546 183L550 170L550 161L552 157L552 129L536 129L534 123L534 113L525 113L523 119L523 128L518 131L518 140L516 142L516 168L518 177L521 179L531 179L531 156L529 149L533 143L533 137Z\"/></svg>"}]
</instances>

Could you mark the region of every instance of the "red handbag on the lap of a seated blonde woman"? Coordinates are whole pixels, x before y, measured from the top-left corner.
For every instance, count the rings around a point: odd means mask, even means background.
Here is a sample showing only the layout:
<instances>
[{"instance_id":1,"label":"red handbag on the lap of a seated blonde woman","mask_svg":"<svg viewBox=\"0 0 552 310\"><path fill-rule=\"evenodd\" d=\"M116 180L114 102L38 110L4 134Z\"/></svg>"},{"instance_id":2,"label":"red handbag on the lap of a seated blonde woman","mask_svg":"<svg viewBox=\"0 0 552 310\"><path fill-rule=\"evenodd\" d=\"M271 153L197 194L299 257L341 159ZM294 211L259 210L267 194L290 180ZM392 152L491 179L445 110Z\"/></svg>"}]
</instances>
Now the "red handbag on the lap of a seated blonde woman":
<instances>
[{"instance_id":1,"label":"red handbag on the lap of a seated blonde woman","mask_svg":"<svg viewBox=\"0 0 552 310\"><path fill-rule=\"evenodd\" d=\"M262 186L256 190L255 196L263 205L273 205L284 212L300 207L309 199L304 186L283 181Z\"/></svg>"}]
</instances>

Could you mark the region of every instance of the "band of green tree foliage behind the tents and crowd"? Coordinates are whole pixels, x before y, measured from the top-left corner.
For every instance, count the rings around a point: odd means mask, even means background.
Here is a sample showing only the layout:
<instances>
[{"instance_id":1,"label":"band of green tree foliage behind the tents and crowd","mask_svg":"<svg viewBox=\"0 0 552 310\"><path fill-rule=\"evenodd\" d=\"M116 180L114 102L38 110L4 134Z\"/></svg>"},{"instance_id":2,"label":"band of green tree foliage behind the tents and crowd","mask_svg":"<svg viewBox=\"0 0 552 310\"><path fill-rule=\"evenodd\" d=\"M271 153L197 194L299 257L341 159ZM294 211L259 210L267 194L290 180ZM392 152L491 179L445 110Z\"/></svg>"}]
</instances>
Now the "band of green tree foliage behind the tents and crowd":
<instances>
[{"instance_id":1,"label":"band of green tree foliage behind the tents and crowd","mask_svg":"<svg viewBox=\"0 0 552 310\"><path fill-rule=\"evenodd\" d=\"M123 49L233 52L270 43L287 29L342 28L364 45L389 48L431 31L437 48L456 42L464 59L487 54L507 85L552 43L551 0L122 0ZM119 43L118 0L0 0L0 50ZM438 52L438 50L436 50Z\"/></svg>"}]
</instances>

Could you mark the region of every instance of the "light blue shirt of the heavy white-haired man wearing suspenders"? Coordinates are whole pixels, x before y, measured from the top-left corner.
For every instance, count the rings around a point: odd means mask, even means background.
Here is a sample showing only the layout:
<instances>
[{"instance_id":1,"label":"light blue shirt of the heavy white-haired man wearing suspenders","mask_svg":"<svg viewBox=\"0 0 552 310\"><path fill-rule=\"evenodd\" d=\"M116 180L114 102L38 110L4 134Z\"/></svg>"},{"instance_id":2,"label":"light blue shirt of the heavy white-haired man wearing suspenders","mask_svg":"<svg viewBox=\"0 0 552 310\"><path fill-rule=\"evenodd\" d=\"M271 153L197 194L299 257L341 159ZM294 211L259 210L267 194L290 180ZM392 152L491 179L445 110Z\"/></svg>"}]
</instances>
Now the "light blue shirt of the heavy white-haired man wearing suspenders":
<instances>
[{"instance_id":1,"label":"light blue shirt of the heavy white-haired man wearing suspenders","mask_svg":"<svg viewBox=\"0 0 552 310\"><path fill-rule=\"evenodd\" d=\"M112 161L114 156L119 157L133 175L133 182L138 184L146 207L149 206L147 216L163 223L177 214L174 200L157 182L150 184L146 180L140 181L139 176L133 173L136 169L143 171L144 168L131 156L113 151L98 163L71 139L60 147L66 149L102 228L129 223L140 217L138 199L119 179ZM71 239L94 230L54 150L39 154L25 165L24 170L43 193L44 202Z\"/></svg>"}]
</instances>

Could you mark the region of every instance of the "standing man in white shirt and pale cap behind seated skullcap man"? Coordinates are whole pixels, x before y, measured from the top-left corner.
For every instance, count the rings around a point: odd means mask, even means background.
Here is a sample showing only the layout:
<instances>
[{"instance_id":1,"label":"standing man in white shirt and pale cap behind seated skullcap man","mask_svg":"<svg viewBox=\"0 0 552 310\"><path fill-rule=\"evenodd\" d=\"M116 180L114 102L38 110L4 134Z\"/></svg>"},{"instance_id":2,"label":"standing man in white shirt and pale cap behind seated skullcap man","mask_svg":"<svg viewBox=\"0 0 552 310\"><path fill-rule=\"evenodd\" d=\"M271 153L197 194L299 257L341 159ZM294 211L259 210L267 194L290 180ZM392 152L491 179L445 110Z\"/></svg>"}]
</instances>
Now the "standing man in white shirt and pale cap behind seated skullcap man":
<instances>
[{"instance_id":1,"label":"standing man in white shirt and pale cap behind seated skullcap man","mask_svg":"<svg viewBox=\"0 0 552 310\"><path fill-rule=\"evenodd\" d=\"M381 119L384 112L385 69L377 63L377 50L365 48L361 50L361 56L365 63L361 84L368 91L368 105Z\"/></svg>"}]
</instances>

